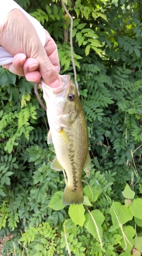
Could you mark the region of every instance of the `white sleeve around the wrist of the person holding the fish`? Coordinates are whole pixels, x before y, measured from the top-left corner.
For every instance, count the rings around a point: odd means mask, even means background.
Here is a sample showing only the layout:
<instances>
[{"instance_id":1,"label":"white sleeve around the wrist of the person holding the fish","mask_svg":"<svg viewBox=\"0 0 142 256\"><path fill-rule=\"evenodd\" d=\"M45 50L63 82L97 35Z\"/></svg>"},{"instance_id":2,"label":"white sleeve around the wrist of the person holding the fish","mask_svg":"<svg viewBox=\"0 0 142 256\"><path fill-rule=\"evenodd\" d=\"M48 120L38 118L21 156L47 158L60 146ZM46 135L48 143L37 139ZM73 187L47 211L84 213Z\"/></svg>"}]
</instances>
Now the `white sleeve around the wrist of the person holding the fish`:
<instances>
[{"instance_id":1,"label":"white sleeve around the wrist of the person holding the fish","mask_svg":"<svg viewBox=\"0 0 142 256\"><path fill-rule=\"evenodd\" d=\"M0 26L4 22L8 13L13 9L19 9L20 11L23 12L23 14L25 14L29 18L30 22L33 24L33 26L36 29L36 32L42 42L42 45L44 46L46 41L46 34L44 31L44 28L41 26L38 20L33 18L31 15L29 15L13 0L0 0ZM3 47L0 46L0 65L11 63L12 60L13 60L13 56L10 53L8 53Z\"/></svg>"}]
</instances>

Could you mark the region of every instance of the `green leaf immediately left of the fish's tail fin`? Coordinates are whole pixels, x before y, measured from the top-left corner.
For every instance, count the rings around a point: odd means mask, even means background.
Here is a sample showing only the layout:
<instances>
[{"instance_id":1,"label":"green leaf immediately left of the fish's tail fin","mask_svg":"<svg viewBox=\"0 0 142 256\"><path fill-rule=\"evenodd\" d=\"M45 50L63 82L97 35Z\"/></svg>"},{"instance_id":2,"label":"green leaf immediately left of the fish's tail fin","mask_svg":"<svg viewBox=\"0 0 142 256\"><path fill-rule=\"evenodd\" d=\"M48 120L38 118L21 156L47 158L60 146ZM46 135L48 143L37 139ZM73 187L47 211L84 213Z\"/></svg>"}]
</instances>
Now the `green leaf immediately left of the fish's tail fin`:
<instances>
[{"instance_id":1,"label":"green leaf immediately left of the fish's tail fin","mask_svg":"<svg viewBox=\"0 0 142 256\"><path fill-rule=\"evenodd\" d=\"M52 197L52 199L49 202L48 207L52 208L53 210L61 210L65 206L62 202L63 192L57 191L55 195Z\"/></svg>"}]
</instances>

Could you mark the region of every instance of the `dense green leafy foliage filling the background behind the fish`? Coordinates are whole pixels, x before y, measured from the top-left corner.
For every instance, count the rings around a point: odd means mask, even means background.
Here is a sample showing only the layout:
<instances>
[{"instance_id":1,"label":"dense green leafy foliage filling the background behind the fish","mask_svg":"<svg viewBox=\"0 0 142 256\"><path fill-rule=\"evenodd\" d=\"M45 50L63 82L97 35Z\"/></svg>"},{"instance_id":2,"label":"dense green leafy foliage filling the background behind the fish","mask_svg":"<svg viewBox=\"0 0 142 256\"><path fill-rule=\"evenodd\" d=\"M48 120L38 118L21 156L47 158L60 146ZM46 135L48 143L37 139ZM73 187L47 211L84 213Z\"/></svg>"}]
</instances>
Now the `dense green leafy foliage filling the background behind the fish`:
<instances>
[{"instance_id":1,"label":"dense green leafy foliage filling the background behind the fish","mask_svg":"<svg viewBox=\"0 0 142 256\"><path fill-rule=\"evenodd\" d=\"M66 1L64 1L66 3ZM19 3L57 42L61 74L73 75L70 19L61 2ZM130 256L142 253L141 1L68 0L91 156L84 203L62 203L51 169L48 120L33 84L0 68L0 236L11 255ZM42 97L42 92L39 90Z\"/></svg>"}]
</instances>

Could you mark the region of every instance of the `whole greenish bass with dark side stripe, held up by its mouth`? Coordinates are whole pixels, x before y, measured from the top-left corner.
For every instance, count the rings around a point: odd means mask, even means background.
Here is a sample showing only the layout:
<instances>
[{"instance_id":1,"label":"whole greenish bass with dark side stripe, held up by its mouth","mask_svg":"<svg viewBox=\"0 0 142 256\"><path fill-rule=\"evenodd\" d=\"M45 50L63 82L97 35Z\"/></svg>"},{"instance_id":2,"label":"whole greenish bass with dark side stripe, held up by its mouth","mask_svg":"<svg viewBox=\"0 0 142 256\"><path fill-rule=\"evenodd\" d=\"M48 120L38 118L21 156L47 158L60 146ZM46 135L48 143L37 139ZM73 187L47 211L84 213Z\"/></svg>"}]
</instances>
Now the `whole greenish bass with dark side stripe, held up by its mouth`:
<instances>
[{"instance_id":1,"label":"whole greenish bass with dark side stripe, held up by its mouth","mask_svg":"<svg viewBox=\"0 0 142 256\"><path fill-rule=\"evenodd\" d=\"M51 168L65 170L67 184L63 204L82 204L82 169L90 176L88 130L78 90L70 75L62 75L62 84L51 88L41 81L46 114L50 126L48 144L53 143L56 156Z\"/></svg>"}]
</instances>

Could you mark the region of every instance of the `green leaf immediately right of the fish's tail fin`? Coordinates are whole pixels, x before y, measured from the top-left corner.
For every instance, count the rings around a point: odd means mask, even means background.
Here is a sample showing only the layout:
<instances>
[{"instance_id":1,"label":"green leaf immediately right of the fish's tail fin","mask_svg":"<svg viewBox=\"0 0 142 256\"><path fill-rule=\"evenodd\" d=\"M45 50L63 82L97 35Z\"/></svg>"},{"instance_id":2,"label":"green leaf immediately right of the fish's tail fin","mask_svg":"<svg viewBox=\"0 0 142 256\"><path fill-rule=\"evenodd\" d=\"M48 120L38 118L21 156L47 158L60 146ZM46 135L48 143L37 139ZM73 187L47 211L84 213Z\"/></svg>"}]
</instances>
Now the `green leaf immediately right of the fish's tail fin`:
<instances>
[{"instance_id":1,"label":"green leaf immediately right of the fish's tail fin","mask_svg":"<svg viewBox=\"0 0 142 256\"><path fill-rule=\"evenodd\" d=\"M84 195L89 198L90 202L97 201L98 197L102 193L100 188L98 188L97 186L88 186L88 185L86 185L83 188L83 191L84 191Z\"/></svg>"}]
</instances>

